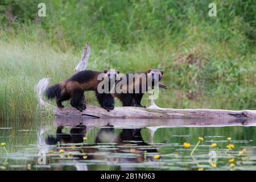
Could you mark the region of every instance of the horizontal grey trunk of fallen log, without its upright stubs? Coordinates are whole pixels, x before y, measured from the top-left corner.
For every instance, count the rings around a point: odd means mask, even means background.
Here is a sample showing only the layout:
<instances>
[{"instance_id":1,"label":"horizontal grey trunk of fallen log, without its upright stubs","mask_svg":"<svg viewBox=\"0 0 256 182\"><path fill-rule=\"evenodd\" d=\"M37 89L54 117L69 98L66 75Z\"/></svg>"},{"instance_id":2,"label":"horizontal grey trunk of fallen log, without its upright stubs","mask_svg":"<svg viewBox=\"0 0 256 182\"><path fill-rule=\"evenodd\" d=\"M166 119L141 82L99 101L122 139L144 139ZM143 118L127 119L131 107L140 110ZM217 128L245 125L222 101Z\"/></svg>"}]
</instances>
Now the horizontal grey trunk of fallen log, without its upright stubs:
<instances>
[{"instance_id":1,"label":"horizontal grey trunk of fallen log, without its upright stubs","mask_svg":"<svg viewBox=\"0 0 256 182\"><path fill-rule=\"evenodd\" d=\"M256 119L256 110L221 110L221 109L150 109L141 107L115 107L106 111L101 107L87 105L80 112L73 107L54 109L54 114L61 117L94 118L137 118L137 119L181 119L181 118L222 118Z\"/></svg>"}]
</instances>

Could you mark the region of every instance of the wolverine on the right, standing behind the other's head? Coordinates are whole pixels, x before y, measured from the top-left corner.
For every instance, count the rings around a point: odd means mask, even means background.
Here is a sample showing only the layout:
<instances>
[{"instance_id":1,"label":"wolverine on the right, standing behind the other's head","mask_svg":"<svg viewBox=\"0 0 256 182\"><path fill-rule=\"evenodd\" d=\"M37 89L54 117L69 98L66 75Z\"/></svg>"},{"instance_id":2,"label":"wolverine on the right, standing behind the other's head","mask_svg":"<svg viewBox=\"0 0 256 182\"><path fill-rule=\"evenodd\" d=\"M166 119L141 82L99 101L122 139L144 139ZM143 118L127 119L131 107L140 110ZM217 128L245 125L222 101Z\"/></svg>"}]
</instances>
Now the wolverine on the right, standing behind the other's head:
<instances>
[{"instance_id":1,"label":"wolverine on the right, standing behind the other's head","mask_svg":"<svg viewBox=\"0 0 256 182\"><path fill-rule=\"evenodd\" d=\"M162 78L163 70L160 69L148 69L147 72L140 73L127 73L116 81L113 95L122 102L123 106L146 107L141 105L141 100L147 90L154 89L154 85L157 84L160 88L167 89L166 85L160 83Z\"/></svg>"}]
</instances>

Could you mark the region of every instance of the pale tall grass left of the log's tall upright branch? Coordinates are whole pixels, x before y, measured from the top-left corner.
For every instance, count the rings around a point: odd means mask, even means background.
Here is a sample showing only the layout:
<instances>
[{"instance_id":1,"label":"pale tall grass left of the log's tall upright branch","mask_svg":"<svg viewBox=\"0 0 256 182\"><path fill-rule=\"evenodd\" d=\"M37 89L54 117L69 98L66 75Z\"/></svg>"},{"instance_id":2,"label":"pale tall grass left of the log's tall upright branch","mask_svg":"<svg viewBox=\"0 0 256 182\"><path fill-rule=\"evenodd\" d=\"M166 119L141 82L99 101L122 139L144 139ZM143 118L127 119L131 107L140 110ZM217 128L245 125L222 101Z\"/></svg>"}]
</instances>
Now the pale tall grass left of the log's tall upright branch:
<instances>
[{"instance_id":1,"label":"pale tall grass left of the log's tall upright branch","mask_svg":"<svg viewBox=\"0 0 256 182\"><path fill-rule=\"evenodd\" d=\"M67 65L63 64L68 61L63 60L68 59L73 64L71 54L58 53L39 44L17 41L1 42L0 55L2 119L34 119L38 106L34 92L36 82L50 75L54 81L65 77L69 69L65 69ZM56 72L58 67L60 70Z\"/></svg>"}]
</instances>

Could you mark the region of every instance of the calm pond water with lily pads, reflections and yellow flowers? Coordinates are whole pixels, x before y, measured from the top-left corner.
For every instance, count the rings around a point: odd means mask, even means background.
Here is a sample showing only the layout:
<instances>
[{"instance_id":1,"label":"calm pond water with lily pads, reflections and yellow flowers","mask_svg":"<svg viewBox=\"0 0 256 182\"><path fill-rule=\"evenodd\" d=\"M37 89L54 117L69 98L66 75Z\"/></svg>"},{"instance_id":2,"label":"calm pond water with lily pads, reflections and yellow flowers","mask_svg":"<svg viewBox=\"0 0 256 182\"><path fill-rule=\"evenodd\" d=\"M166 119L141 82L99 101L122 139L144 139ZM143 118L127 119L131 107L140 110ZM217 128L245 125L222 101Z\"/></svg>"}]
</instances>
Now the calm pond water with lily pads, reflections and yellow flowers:
<instances>
[{"instance_id":1,"label":"calm pond water with lily pads, reflections and yellow flowers","mask_svg":"<svg viewBox=\"0 0 256 182\"><path fill-rule=\"evenodd\" d=\"M0 170L256 170L255 126L256 120L64 118L1 125ZM191 155L198 137L204 141Z\"/></svg>"}]
</instances>

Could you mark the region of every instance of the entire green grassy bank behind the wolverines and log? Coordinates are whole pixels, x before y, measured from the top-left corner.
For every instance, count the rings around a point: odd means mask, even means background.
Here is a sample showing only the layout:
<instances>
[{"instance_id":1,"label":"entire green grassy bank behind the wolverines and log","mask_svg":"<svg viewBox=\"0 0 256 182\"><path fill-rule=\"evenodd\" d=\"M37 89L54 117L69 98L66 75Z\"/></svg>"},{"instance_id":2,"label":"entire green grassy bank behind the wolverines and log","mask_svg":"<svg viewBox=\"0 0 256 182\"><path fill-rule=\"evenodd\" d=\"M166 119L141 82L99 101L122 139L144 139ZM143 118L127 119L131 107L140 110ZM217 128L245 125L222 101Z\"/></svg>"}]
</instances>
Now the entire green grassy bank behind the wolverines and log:
<instances>
[{"instance_id":1,"label":"entire green grassy bank behind the wolverines and log","mask_svg":"<svg viewBox=\"0 0 256 182\"><path fill-rule=\"evenodd\" d=\"M208 16L208 1L46 1L42 18L36 15L38 3L0 3L5 123L52 117L51 111L39 114L34 86L43 77L51 83L70 77L86 42L91 44L87 69L163 69L162 82L170 90L160 90L155 101L160 107L256 109L253 1L216 1L217 17ZM97 106L94 94L85 94Z\"/></svg>"}]
</instances>

